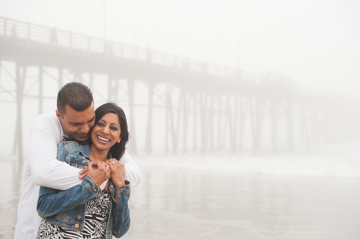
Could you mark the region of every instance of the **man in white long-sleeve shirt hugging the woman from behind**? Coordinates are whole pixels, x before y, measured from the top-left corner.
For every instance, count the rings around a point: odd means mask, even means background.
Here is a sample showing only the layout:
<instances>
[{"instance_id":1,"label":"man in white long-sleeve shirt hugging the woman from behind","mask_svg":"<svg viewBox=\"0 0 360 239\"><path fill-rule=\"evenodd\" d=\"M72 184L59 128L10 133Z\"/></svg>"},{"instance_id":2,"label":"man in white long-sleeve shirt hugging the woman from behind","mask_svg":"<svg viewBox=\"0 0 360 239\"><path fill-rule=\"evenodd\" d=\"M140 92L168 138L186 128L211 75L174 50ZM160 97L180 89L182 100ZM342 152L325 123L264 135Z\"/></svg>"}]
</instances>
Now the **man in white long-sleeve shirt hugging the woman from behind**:
<instances>
[{"instance_id":1,"label":"man in white long-sleeve shirt hugging the woman from behind","mask_svg":"<svg viewBox=\"0 0 360 239\"><path fill-rule=\"evenodd\" d=\"M79 82L71 82L61 88L57 96L56 113L42 114L35 119L30 130L24 189L17 208L15 239L36 238L41 222L36 211L40 186L67 190L81 184L82 178L87 174L86 170L58 161L57 144L63 137L86 141L94 123L92 93L86 85ZM136 186L141 179L137 164L127 152L120 162L125 164L125 179Z\"/></svg>"}]
</instances>

